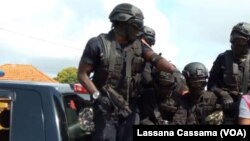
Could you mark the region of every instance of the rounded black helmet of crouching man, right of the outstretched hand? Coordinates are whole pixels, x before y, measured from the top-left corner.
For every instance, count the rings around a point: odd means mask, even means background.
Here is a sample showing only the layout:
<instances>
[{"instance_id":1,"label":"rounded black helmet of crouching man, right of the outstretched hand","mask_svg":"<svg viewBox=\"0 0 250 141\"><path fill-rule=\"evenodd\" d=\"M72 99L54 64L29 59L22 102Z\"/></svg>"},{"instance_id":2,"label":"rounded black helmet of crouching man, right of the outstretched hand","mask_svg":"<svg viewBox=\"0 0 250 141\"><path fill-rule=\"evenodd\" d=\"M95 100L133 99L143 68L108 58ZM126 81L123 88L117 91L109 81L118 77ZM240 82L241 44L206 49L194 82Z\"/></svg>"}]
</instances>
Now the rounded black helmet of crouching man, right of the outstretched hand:
<instances>
[{"instance_id":1,"label":"rounded black helmet of crouching man, right of the outstretched hand","mask_svg":"<svg viewBox=\"0 0 250 141\"><path fill-rule=\"evenodd\" d=\"M187 64L184 67L182 74L187 81L208 78L207 68L200 62L192 62Z\"/></svg>"}]
</instances>

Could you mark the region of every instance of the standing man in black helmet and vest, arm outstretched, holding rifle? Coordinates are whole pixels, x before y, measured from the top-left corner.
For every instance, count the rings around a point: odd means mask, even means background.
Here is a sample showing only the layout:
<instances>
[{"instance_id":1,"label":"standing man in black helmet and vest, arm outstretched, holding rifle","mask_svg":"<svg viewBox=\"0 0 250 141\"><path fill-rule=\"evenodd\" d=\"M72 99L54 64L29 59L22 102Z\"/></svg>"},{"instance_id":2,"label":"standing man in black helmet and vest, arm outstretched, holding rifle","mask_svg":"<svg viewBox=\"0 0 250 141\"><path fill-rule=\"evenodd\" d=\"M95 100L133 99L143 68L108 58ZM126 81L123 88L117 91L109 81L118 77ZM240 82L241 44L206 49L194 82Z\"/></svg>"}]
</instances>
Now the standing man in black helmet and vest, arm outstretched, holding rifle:
<instances>
[{"instance_id":1,"label":"standing man in black helmet and vest, arm outstretched, holding rifle","mask_svg":"<svg viewBox=\"0 0 250 141\"><path fill-rule=\"evenodd\" d=\"M175 69L140 40L144 17L138 7L119 4L109 19L111 31L87 42L78 79L94 100L93 140L131 141L132 127L139 123L137 74L142 73L145 61L169 73ZM91 72L93 81L89 79Z\"/></svg>"}]
</instances>

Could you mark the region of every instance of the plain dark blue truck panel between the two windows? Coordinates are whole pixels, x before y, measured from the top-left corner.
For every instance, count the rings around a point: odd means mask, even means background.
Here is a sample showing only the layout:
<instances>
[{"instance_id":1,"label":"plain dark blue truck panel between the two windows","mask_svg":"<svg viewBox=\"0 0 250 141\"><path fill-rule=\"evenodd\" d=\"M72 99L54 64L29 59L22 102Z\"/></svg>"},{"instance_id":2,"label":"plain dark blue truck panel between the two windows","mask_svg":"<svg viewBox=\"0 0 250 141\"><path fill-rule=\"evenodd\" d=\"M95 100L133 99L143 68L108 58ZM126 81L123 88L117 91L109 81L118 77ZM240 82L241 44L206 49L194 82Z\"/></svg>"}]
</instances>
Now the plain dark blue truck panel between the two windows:
<instances>
[{"instance_id":1,"label":"plain dark blue truck panel between the two windows","mask_svg":"<svg viewBox=\"0 0 250 141\"><path fill-rule=\"evenodd\" d=\"M34 90L15 89L12 104L11 140L44 141L44 119L41 93ZM32 135L30 134L32 133Z\"/></svg>"}]
</instances>

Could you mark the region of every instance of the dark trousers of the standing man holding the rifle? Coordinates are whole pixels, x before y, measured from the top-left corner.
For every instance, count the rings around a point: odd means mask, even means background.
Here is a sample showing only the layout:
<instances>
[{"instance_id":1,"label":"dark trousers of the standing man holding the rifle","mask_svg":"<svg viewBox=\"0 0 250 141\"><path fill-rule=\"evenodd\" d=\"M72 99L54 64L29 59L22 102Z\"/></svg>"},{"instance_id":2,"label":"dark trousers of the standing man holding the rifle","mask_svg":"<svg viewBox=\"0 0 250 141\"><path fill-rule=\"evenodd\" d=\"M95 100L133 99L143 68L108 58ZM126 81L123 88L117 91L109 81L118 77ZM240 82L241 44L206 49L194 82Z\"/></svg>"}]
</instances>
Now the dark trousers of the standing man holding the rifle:
<instances>
[{"instance_id":1,"label":"dark trousers of the standing man holding the rifle","mask_svg":"<svg viewBox=\"0 0 250 141\"><path fill-rule=\"evenodd\" d=\"M94 102L93 109L95 131L92 141L133 141L133 125L139 124L135 108L126 118L114 115L100 102Z\"/></svg>"}]
</instances>

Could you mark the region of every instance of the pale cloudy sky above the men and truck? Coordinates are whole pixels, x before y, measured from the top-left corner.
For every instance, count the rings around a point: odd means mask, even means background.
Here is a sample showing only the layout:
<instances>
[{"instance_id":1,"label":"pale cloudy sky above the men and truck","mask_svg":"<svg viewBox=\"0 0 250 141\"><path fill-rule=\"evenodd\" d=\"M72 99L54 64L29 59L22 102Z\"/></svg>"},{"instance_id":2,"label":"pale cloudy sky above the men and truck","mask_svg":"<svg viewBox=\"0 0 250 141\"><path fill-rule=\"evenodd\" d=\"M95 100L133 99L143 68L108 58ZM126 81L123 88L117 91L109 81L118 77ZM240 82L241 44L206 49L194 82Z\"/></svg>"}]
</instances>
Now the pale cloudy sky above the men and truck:
<instances>
[{"instance_id":1,"label":"pale cloudy sky above the men and truck","mask_svg":"<svg viewBox=\"0 0 250 141\"><path fill-rule=\"evenodd\" d=\"M230 49L238 22L250 22L248 0L5 0L0 2L0 65L32 64L55 77L78 67L86 42L111 28L114 6L139 7L156 31L153 49L180 70L198 61L210 70Z\"/></svg>"}]
</instances>

